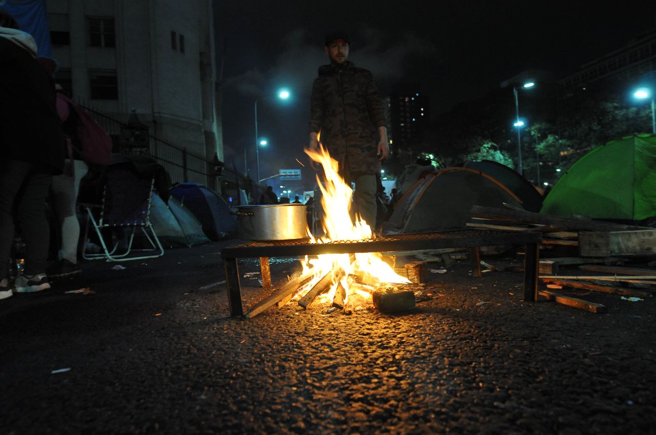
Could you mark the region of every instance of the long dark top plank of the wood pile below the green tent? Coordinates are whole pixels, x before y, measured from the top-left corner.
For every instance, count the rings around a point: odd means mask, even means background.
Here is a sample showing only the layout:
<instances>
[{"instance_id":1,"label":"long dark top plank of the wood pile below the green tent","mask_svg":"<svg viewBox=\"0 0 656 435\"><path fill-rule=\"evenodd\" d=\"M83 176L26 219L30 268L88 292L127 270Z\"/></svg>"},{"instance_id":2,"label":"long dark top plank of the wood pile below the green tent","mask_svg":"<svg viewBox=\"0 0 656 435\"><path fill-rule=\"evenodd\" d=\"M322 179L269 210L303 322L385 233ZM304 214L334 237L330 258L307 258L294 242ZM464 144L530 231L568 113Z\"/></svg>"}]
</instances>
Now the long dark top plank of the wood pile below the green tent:
<instances>
[{"instance_id":1,"label":"long dark top plank of the wood pile below the green tent","mask_svg":"<svg viewBox=\"0 0 656 435\"><path fill-rule=\"evenodd\" d=\"M498 207L485 207L485 206L472 206L471 212L476 216L497 216L497 217L510 217L524 221L526 223L543 223L544 225L554 225L556 227L573 231L626 231L626 230L644 230L647 227L636 227L632 225L621 225L619 223L611 223L604 221L593 221L592 219L571 219L567 217L551 216L548 214L540 214L534 212L527 212L525 210L512 210L508 208ZM579 235L580 237L580 235Z\"/></svg>"}]
</instances>

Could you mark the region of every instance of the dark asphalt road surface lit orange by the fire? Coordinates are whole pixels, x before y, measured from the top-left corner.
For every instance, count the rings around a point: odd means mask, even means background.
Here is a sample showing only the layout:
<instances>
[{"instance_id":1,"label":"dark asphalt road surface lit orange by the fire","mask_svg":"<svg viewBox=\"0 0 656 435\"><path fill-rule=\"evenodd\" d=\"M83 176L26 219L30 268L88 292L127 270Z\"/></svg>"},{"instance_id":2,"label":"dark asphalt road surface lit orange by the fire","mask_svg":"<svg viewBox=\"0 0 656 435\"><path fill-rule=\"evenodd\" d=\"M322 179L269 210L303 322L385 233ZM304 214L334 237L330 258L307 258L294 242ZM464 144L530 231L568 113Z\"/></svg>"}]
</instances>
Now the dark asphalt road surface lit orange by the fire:
<instances>
[{"instance_id":1,"label":"dark asphalt road surface lit orange by the fire","mask_svg":"<svg viewBox=\"0 0 656 435\"><path fill-rule=\"evenodd\" d=\"M85 262L0 301L0 434L656 433L656 298L525 303L521 273L461 261L410 312L241 320L217 284L234 242ZM297 269L272 259L274 281ZM247 309L264 291L242 282Z\"/></svg>"}]
</instances>

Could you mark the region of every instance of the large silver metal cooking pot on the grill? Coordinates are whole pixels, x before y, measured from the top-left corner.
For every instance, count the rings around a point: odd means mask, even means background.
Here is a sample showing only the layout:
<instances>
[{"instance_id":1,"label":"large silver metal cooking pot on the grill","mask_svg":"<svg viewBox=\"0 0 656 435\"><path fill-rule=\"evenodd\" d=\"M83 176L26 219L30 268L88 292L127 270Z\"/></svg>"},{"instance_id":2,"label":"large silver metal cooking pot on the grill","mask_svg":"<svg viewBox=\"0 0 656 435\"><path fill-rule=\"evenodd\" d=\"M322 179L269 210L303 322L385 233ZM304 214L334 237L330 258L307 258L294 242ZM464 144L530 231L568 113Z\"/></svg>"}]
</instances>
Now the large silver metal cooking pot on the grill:
<instances>
[{"instance_id":1,"label":"large silver metal cooking pot on the grill","mask_svg":"<svg viewBox=\"0 0 656 435\"><path fill-rule=\"evenodd\" d=\"M306 206L266 204L237 206L239 238L243 240L289 240L305 238Z\"/></svg>"}]
</instances>

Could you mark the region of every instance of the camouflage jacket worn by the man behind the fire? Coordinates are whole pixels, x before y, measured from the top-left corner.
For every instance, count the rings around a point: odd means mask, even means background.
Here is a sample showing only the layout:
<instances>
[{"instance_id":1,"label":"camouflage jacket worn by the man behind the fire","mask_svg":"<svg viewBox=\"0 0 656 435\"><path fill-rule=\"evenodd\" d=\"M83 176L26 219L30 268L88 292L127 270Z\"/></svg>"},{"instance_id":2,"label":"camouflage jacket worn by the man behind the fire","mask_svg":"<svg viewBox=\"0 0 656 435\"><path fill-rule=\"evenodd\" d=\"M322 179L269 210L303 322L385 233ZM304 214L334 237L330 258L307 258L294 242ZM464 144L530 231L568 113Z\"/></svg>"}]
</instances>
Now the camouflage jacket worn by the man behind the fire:
<instances>
[{"instance_id":1,"label":"camouflage jacket worn by the man behind the fire","mask_svg":"<svg viewBox=\"0 0 656 435\"><path fill-rule=\"evenodd\" d=\"M380 174L378 127L386 126L380 94L370 71L352 62L323 65L312 84L310 132L321 131L340 170Z\"/></svg>"}]
</instances>

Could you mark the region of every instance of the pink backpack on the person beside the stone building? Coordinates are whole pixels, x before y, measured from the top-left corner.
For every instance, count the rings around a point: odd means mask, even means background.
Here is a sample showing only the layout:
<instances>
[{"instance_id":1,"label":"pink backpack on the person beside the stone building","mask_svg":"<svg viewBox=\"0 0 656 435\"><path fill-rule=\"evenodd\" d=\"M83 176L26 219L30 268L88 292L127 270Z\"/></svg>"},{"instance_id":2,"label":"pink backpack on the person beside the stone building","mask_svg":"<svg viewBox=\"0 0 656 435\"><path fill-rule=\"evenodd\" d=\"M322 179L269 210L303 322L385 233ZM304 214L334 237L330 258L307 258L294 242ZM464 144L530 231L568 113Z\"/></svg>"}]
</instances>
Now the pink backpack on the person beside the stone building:
<instances>
[{"instance_id":1,"label":"pink backpack on the person beside the stone building","mask_svg":"<svg viewBox=\"0 0 656 435\"><path fill-rule=\"evenodd\" d=\"M81 149L78 147L75 149L87 164L105 166L112 157L112 138L81 105L66 96L64 96L64 100L68 102L69 107L75 110L75 115L77 115L77 138Z\"/></svg>"}]
</instances>

